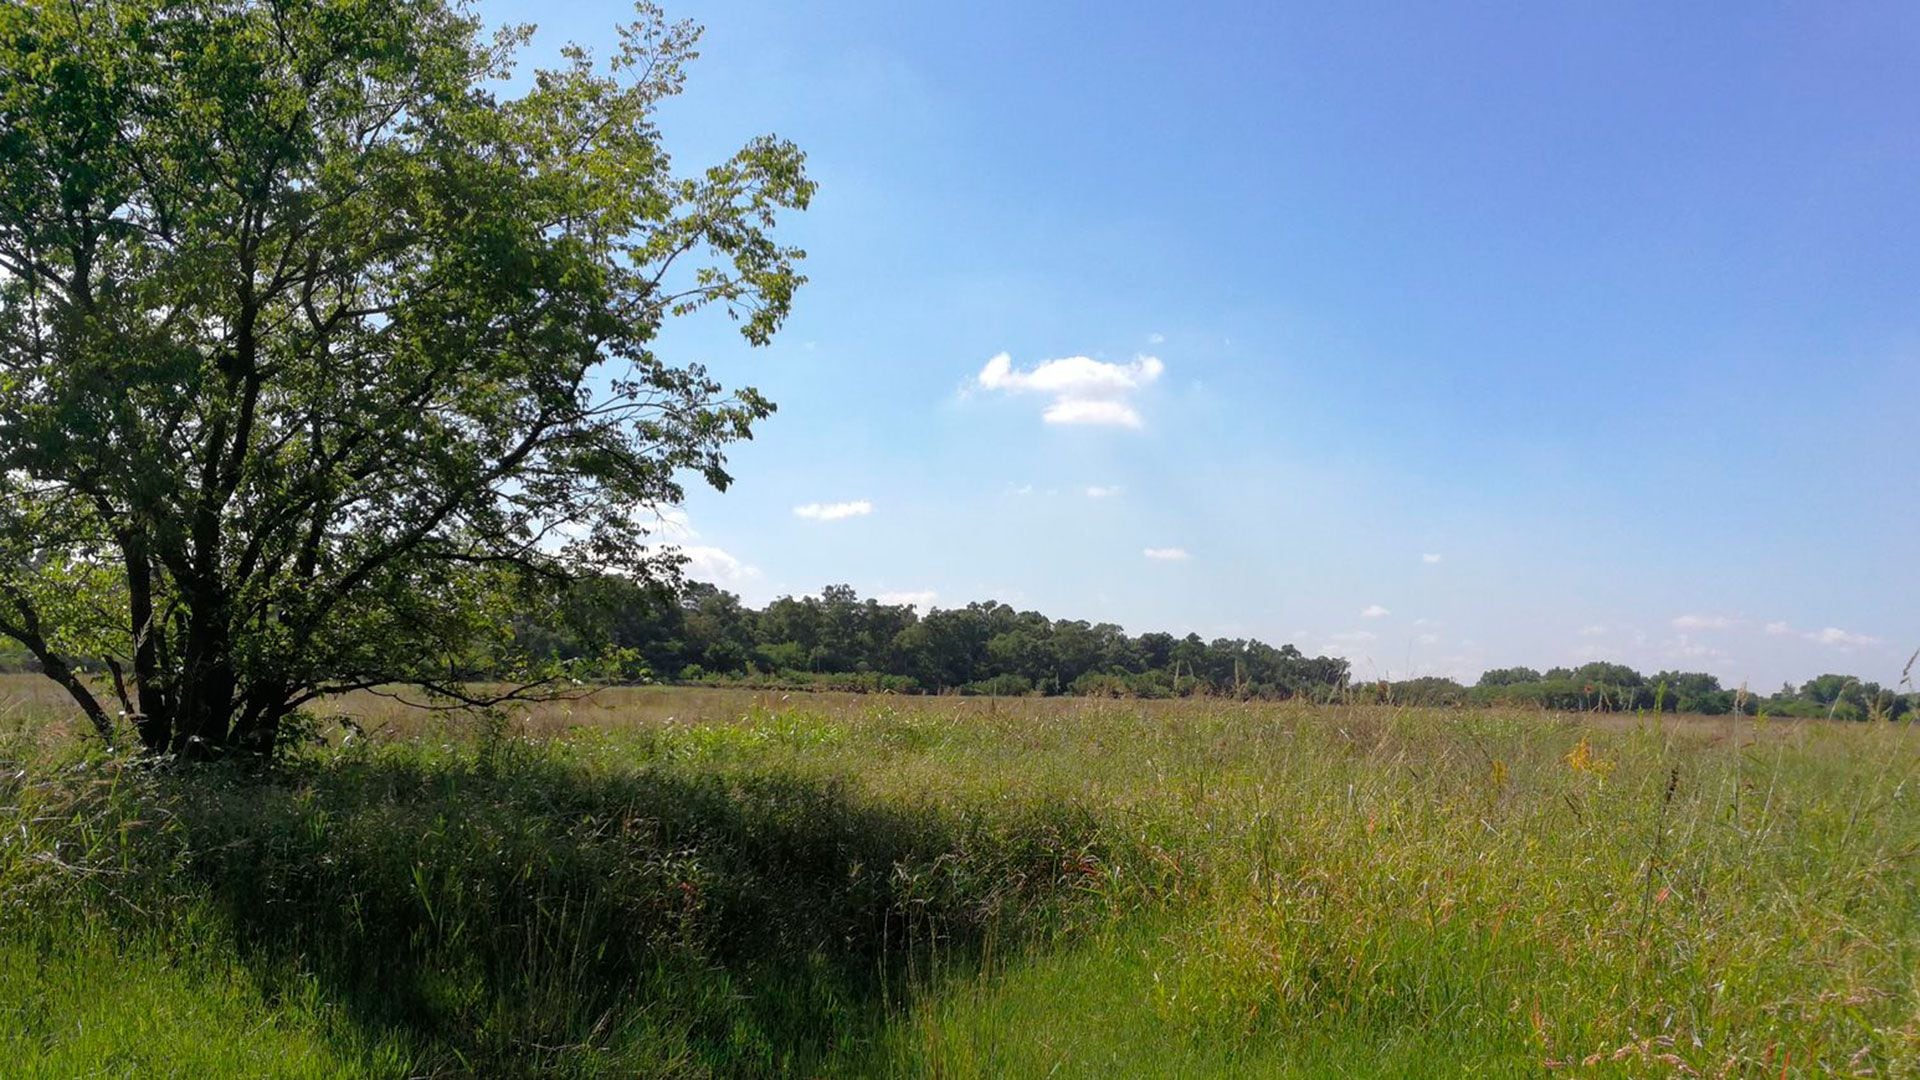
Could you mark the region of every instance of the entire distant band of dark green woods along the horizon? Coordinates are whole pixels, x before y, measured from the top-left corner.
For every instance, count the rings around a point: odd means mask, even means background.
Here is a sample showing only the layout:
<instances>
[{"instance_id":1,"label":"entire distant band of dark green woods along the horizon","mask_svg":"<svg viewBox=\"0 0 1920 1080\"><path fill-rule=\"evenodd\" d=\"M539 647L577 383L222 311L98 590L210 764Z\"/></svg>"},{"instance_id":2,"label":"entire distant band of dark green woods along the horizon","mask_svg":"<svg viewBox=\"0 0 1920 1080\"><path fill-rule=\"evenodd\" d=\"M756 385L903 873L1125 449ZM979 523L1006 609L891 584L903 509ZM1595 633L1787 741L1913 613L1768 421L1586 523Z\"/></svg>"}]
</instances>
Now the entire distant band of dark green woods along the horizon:
<instances>
[{"instance_id":1,"label":"entire distant band of dark green woods along the horizon","mask_svg":"<svg viewBox=\"0 0 1920 1080\"><path fill-rule=\"evenodd\" d=\"M601 578L559 611L522 617L524 653L576 661L616 657L614 678L870 690L900 694L1081 694L1110 698L1258 698L1407 705L1749 713L1899 719L1920 707L1847 675L1774 694L1720 686L1707 673L1642 675L1619 663L1534 671L1507 667L1465 686L1452 678L1354 680L1340 657L1294 646L1198 634L1129 636L1112 623L1048 619L998 601L935 607L860 600L845 584L783 596L755 611L705 582L641 586Z\"/></svg>"}]
</instances>

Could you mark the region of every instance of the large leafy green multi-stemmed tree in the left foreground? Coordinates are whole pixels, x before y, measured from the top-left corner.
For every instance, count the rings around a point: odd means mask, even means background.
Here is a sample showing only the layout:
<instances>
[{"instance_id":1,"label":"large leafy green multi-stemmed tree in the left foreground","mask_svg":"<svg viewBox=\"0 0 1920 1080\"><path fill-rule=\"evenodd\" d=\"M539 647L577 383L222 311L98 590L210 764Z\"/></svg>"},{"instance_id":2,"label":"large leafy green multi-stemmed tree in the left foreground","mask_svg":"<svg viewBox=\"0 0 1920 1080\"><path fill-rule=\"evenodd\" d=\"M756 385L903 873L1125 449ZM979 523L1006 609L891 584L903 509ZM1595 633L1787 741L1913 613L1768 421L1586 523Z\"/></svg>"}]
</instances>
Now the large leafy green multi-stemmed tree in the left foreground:
<instances>
[{"instance_id":1,"label":"large leafy green multi-stemmed tree in the left foreground","mask_svg":"<svg viewBox=\"0 0 1920 1080\"><path fill-rule=\"evenodd\" d=\"M319 696L468 696L586 573L660 578L643 507L772 411L660 357L764 344L812 194L758 138L676 177L697 29L643 4L518 96L459 0L0 8L0 634L102 736L271 748ZM541 673L520 671L522 682Z\"/></svg>"}]
</instances>

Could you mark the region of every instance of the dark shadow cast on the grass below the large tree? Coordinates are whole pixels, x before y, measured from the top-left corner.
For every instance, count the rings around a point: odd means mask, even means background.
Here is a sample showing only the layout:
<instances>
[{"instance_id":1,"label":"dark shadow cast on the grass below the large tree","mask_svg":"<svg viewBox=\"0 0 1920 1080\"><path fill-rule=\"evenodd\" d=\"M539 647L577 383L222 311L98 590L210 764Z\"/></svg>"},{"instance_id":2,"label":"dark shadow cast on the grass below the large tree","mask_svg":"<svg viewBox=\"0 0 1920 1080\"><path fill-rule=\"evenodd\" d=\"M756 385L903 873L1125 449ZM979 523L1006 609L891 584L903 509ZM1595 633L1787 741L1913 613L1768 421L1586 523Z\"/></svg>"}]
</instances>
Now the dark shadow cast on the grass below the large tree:
<instances>
[{"instance_id":1,"label":"dark shadow cast on the grass below the large tree","mask_svg":"<svg viewBox=\"0 0 1920 1080\"><path fill-rule=\"evenodd\" d=\"M173 784L186 872L267 992L317 982L424 1074L851 1070L908 988L1068 903L1096 844L1068 807L524 744Z\"/></svg>"}]
</instances>

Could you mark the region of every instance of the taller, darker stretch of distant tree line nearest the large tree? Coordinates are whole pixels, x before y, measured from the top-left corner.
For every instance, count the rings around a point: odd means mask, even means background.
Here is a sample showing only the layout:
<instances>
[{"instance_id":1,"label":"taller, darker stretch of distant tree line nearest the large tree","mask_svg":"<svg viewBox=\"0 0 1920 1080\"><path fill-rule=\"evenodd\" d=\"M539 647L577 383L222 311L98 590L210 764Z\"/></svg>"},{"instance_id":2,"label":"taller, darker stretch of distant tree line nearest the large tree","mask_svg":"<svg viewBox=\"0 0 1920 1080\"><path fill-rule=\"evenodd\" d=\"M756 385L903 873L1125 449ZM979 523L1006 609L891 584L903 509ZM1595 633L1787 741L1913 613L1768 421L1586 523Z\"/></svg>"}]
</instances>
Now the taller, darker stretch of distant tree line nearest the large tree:
<instances>
[{"instance_id":1,"label":"taller, darker stretch of distant tree line nearest the large tree","mask_svg":"<svg viewBox=\"0 0 1920 1080\"><path fill-rule=\"evenodd\" d=\"M1104 694L1336 700L1348 661L1294 646L1198 634L1129 636L1112 623L1048 619L998 601L935 607L862 600L835 584L755 611L707 582L607 577L557 613L526 615L520 653L611 657L605 675L958 694Z\"/></svg>"}]
</instances>

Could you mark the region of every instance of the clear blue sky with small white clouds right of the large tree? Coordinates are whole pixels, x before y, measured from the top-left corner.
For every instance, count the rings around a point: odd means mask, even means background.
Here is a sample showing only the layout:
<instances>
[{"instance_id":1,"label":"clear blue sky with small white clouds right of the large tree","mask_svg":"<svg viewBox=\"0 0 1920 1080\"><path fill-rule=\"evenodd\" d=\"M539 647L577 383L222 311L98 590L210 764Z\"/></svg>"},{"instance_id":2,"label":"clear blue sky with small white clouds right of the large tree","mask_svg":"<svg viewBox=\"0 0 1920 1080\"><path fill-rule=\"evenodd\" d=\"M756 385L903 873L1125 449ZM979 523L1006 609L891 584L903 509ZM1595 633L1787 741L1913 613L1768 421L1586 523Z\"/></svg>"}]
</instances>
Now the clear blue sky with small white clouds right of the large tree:
<instances>
[{"instance_id":1,"label":"clear blue sky with small white clouds right of the large tree","mask_svg":"<svg viewBox=\"0 0 1920 1080\"><path fill-rule=\"evenodd\" d=\"M778 133L820 181L776 344L666 336L780 404L699 573L1359 675L1897 682L1920 8L670 8L680 165ZM482 12L538 60L628 8Z\"/></svg>"}]
</instances>

